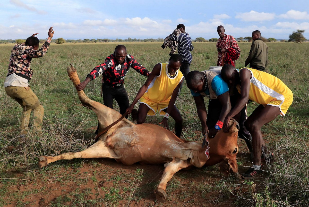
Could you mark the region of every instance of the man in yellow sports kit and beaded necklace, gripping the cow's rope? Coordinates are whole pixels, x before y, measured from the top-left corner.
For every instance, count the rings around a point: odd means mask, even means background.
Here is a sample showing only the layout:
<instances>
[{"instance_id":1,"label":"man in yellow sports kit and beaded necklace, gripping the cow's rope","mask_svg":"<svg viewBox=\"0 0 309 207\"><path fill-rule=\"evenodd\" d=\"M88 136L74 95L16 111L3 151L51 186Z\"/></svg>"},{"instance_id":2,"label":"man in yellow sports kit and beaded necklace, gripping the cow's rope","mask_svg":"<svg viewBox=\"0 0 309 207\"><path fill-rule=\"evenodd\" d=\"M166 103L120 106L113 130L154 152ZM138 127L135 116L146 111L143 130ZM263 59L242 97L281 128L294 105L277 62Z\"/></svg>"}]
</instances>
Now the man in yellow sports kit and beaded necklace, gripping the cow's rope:
<instances>
[{"instance_id":1,"label":"man in yellow sports kit and beaded necklace, gripping the cow's rope","mask_svg":"<svg viewBox=\"0 0 309 207\"><path fill-rule=\"evenodd\" d=\"M180 66L181 57L174 54L168 63L158 63L152 69L145 84L139 89L132 104L126 110L130 114L134 105L140 100L137 124L145 123L146 115L155 116L158 111L159 115L164 116L159 124L169 129L167 120L171 116L175 120L175 134L180 137L183 121L175 106L177 94L184 79L184 75L178 70Z\"/></svg>"}]
</instances>

